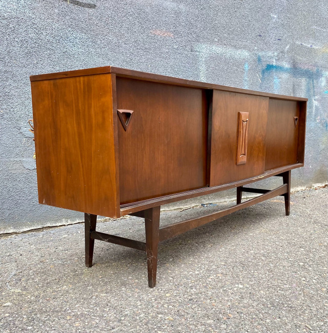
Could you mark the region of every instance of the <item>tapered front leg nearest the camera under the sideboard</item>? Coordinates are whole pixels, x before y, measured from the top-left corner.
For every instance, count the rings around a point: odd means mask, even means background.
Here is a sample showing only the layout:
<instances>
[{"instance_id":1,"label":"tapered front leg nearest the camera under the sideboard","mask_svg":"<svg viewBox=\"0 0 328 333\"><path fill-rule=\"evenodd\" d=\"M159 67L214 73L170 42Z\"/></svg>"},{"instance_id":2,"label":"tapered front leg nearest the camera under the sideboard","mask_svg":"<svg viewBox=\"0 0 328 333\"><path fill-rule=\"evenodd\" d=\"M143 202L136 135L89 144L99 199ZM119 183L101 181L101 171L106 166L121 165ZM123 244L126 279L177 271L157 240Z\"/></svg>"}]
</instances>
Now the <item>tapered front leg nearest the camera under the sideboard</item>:
<instances>
[{"instance_id":1,"label":"tapered front leg nearest the camera under the sideboard","mask_svg":"<svg viewBox=\"0 0 328 333\"><path fill-rule=\"evenodd\" d=\"M157 253L159 243L159 214L160 206L145 210L148 285L151 288L154 288L156 284Z\"/></svg>"}]
</instances>

